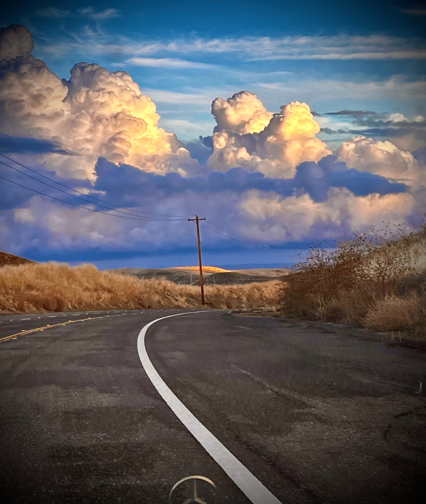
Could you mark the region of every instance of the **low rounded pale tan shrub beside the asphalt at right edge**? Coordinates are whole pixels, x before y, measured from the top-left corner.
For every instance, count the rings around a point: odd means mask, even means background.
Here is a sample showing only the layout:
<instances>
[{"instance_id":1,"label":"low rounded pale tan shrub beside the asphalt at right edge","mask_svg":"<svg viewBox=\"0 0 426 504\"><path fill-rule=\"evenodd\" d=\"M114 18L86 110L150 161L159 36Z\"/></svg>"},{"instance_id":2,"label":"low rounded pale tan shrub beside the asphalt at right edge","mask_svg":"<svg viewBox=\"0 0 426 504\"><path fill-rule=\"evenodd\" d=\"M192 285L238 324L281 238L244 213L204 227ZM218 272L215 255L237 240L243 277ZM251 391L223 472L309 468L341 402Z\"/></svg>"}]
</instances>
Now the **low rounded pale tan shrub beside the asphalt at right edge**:
<instances>
[{"instance_id":1,"label":"low rounded pale tan shrub beside the asphalt at right edge","mask_svg":"<svg viewBox=\"0 0 426 504\"><path fill-rule=\"evenodd\" d=\"M386 296L370 309L365 322L379 331L408 331L424 335L425 299L417 293L407 297Z\"/></svg>"}]
</instances>

